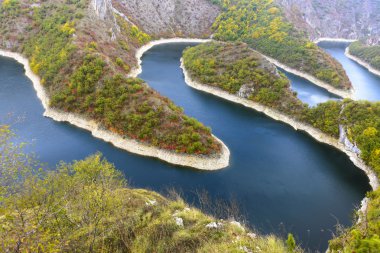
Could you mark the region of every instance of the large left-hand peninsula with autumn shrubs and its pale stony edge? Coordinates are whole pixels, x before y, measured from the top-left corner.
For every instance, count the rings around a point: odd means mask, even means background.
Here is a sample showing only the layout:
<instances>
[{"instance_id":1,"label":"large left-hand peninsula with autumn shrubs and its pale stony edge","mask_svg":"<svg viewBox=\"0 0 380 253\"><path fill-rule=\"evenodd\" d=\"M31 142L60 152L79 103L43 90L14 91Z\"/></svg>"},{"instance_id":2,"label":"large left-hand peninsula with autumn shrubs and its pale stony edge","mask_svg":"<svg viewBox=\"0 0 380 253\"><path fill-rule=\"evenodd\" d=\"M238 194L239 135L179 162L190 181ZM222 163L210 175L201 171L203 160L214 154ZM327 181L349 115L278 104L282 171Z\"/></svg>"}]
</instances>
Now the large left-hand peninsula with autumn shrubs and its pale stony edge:
<instances>
[{"instance_id":1,"label":"large left-hand peninsula with autumn shrubs and its pale stony edge","mask_svg":"<svg viewBox=\"0 0 380 253\"><path fill-rule=\"evenodd\" d=\"M229 150L210 128L136 78L135 52L151 37L110 6L103 6L105 13L98 7L96 1L89 8L82 2L3 4L2 25L25 32L8 44L18 54L2 55L24 64L45 115L136 154L202 170L227 167ZM21 22L22 13L32 26Z\"/></svg>"}]
</instances>

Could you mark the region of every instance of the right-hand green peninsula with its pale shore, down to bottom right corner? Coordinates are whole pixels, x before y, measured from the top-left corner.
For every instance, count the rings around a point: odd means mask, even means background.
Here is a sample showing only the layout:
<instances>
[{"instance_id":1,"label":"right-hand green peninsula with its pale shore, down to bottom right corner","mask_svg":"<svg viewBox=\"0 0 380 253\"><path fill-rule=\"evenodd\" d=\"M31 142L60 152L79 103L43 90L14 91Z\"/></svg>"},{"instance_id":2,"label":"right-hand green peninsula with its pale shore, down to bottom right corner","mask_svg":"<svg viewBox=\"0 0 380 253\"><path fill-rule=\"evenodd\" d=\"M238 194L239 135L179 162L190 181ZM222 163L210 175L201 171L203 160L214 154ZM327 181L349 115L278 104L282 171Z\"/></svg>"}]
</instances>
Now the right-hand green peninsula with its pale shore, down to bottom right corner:
<instances>
[{"instance_id":1,"label":"right-hand green peninsula with its pale shore, down to bottom right corner","mask_svg":"<svg viewBox=\"0 0 380 253\"><path fill-rule=\"evenodd\" d=\"M369 177L373 192L363 201L359 222L330 242L330 250L355 248L378 231L380 103L329 101L308 107L289 89L289 81L245 44L206 43L189 48L182 59L186 82L199 90L263 112L346 153ZM363 221L371 229L363 227ZM350 238L348 240L345 238Z\"/></svg>"}]
</instances>

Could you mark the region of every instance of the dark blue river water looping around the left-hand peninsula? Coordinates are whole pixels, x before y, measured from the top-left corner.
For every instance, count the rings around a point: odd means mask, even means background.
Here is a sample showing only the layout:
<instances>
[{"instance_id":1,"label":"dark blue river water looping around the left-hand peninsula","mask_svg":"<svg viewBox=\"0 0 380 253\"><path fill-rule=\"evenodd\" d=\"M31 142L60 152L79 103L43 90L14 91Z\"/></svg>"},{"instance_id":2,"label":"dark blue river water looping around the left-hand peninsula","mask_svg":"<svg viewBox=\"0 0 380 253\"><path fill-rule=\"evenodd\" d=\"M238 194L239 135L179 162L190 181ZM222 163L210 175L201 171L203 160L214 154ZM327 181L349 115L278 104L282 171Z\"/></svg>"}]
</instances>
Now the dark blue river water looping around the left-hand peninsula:
<instances>
[{"instance_id":1,"label":"dark blue river water looping around the left-hand peninsula","mask_svg":"<svg viewBox=\"0 0 380 253\"><path fill-rule=\"evenodd\" d=\"M303 247L325 250L337 222L351 225L354 208L370 190L368 179L346 155L306 133L187 86L179 59L189 45L152 48L143 57L140 77L213 129L230 148L227 169L203 172L133 155L44 118L23 67L8 58L0 58L0 124L10 123L51 167L100 151L134 187L175 188L195 204L196 192L205 190L214 201L237 202L247 224L262 233L291 232Z\"/></svg>"}]
</instances>

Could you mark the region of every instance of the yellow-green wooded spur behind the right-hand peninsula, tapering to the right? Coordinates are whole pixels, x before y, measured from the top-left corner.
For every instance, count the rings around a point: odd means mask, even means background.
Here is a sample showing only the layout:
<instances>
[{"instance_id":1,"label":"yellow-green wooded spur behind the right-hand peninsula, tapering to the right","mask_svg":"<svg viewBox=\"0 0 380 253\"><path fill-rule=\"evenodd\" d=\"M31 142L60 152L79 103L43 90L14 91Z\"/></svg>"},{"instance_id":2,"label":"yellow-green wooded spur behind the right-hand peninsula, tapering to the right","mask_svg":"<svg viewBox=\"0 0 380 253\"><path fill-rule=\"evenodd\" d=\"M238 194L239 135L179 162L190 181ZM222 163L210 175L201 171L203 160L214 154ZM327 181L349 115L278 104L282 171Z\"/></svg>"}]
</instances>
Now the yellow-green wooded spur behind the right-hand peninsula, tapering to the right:
<instances>
[{"instance_id":1,"label":"yellow-green wooded spur behind the right-hand peninsula, tapering to the right","mask_svg":"<svg viewBox=\"0 0 380 253\"><path fill-rule=\"evenodd\" d=\"M340 63L287 22L272 0L214 0L223 12L214 38L242 41L281 63L306 72L338 89L351 83Z\"/></svg>"}]
</instances>

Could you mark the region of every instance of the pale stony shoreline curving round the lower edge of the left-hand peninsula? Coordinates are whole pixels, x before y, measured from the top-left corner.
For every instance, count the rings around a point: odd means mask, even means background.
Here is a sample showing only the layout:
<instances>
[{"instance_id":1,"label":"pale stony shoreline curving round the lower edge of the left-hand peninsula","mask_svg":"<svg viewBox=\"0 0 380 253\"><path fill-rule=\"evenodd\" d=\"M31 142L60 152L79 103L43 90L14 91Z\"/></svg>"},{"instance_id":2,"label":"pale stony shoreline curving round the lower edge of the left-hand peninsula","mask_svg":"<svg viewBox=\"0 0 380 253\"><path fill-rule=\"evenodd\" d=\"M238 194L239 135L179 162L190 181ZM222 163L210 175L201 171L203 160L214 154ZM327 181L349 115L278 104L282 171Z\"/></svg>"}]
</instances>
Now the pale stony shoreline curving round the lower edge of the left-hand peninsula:
<instances>
[{"instance_id":1,"label":"pale stony shoreline curving round the lower edge of the left-hand peninsula","mask_svg":"<svg viewBox=\"0 0 380 253\"><path fill-rule=\"evenodd\" d=\"M230 151L227 146L218 138L214 138L221 144L222 150L219 156L202 157L197 155L177 154L175 152L159 149L136 140L126 139L120 135L104 130L94 120L83 118L80 115L73 113L61 112L49 107L49 97L41 85L40 78L34 74L30 68L28 59L18 53L0 50L0 56L15 59L25 68L25 75L32 81L33 87L37 92L37 97L40 99L45 112L44 116L54 119L59 122L69 122L79 128L90 131L96 138L112 143L115 147L126 150L128 152L158 158L168 163L192 167L200 170L218 170L229 165Z\"/></svg>"}]
</instances>

